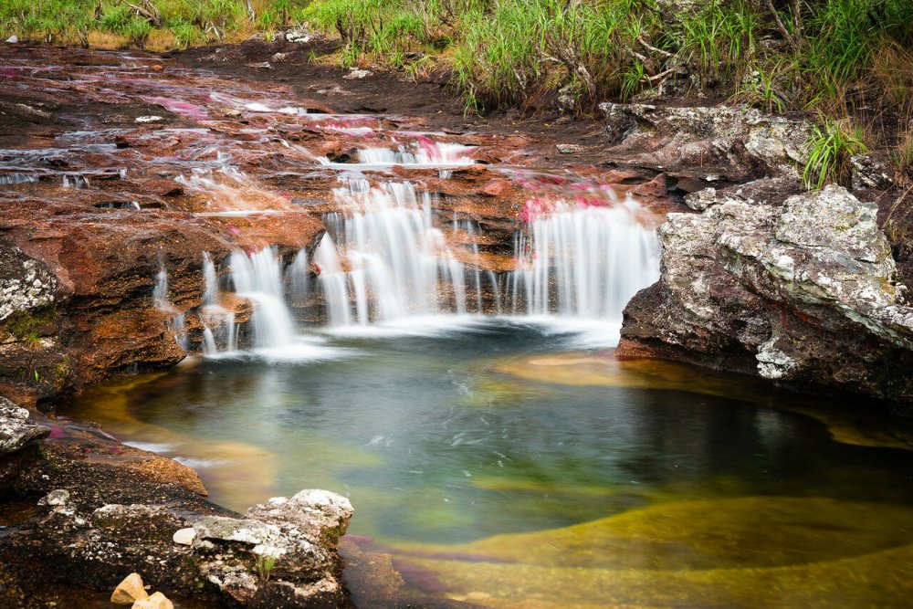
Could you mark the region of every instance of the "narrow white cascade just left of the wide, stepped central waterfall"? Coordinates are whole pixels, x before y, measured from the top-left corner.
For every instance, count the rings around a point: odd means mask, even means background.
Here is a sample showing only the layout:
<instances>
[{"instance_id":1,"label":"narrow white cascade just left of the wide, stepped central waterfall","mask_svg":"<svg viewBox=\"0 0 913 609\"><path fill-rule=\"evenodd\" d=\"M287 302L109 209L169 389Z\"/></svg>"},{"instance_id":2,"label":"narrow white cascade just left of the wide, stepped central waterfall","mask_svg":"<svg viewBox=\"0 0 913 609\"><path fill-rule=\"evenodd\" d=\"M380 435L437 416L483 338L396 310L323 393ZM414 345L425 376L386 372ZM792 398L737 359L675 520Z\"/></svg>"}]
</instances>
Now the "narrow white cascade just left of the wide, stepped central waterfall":
<instances>
[{"instance_id":1,"label":"narrow white cascade just left of the wide, stepped central waterfall","mask_svg":"<svg viewBox=\"0 0 913 609\"><path fill-rule=\"evenodd\" d=\"M286 306L282 285L282 259L276 247L265 247L250 256L231 255L231 277L238 296L254 302L254 342L257 347L282 348L295 342L298 331Z\"/></svg>"}]
</instances>

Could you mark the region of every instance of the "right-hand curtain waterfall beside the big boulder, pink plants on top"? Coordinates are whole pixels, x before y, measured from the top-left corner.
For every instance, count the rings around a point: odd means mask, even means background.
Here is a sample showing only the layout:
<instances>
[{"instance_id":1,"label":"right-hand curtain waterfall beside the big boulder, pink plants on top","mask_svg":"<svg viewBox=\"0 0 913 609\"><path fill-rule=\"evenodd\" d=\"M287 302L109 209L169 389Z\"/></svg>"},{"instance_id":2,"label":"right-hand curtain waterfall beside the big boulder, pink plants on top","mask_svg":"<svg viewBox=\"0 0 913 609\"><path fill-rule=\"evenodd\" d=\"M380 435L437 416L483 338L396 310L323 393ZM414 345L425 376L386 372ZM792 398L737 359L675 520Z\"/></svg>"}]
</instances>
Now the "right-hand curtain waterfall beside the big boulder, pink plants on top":
<instances>
[{"instance_id":1,"label":"right-hand curtain waterfall beside the big boulder, pink plants on top","mask_svg":"<svg viewBox=\"0 0 913 609\"><path fill-rule=\"evenodd\" d=\"M536 217L518 237L526 268L510 278L513 310L529 315L599 319L620 323L639 289L659 278L655 232L637 222L633 200L614 206L557 205Z\"/></svg>"}]
</instances>

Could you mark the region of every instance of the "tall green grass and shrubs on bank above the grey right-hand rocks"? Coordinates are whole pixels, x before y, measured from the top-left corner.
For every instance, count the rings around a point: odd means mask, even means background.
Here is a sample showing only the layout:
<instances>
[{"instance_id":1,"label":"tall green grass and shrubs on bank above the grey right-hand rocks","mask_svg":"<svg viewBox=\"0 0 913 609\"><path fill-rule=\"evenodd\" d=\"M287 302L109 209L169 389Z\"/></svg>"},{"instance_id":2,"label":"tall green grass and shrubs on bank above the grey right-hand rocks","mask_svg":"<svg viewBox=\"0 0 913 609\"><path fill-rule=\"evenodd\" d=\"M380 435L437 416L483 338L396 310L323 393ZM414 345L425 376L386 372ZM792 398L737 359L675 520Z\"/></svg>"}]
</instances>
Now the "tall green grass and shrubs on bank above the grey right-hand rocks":
<instances>
[{"instance_id":1,"label":"tall green grass and shrubs on bank above the grey right-hand rocks","mask_svg":"<svg viewBox=\"0 0 913 609\"><path fill-rule=\"evenodd\" d=\"M341 37L343 66L451 72L467 111L700 94L821 112L810 184L866 143L894 147L898 171L913 160L883 124L913 118L909 0L315 0L303 15Z\"/></svg>"}]
</instances>

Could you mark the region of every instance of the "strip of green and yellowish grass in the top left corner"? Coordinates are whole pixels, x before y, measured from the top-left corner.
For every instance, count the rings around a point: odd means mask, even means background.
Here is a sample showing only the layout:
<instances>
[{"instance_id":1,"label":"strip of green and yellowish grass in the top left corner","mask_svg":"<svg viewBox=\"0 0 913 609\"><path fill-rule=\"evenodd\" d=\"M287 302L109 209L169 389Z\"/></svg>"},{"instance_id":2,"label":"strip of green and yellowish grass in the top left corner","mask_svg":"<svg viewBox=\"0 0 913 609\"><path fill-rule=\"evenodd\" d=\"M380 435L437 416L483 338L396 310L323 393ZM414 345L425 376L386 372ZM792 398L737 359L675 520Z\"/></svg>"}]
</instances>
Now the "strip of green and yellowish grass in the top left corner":
<instances>
[{"instance_id":1,"label":"strip of green and yellowish grass in the top left corner","mask_svg":"<svg viewBox=\"0 0 913 609\"><path fill-rule=\"evenodd\" d=\"M166 50L272 33L310 0L5 0L0 34L93 47Z\"/></svg>"}]
</instances>

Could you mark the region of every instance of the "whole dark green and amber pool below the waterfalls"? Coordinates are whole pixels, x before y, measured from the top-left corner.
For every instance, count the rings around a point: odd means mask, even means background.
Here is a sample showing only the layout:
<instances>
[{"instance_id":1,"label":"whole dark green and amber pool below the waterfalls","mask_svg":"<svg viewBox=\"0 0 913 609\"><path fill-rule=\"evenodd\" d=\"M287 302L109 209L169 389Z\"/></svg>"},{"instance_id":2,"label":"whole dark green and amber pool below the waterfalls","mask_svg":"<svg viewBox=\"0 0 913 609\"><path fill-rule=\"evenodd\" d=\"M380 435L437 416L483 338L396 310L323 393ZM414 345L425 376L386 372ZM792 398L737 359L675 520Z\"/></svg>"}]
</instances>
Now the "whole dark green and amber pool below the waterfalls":
<instances>
[{"instance_id":1,"label":"whole dark green and amber pool below the waterfalls","mask_svg":"<svg viewBox=\"0 0 913 609\"><path fill-rule=\"evenodd\" d=\"M203 361L62 414L179 458L233 509L301 488L348 496L360 606L913 593L913 453L890 447L905 444L894 423L507 320L312 347L331 358Z\"/></svg>"}]
</instances>

